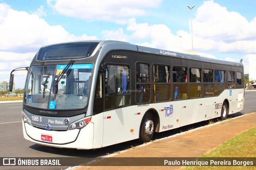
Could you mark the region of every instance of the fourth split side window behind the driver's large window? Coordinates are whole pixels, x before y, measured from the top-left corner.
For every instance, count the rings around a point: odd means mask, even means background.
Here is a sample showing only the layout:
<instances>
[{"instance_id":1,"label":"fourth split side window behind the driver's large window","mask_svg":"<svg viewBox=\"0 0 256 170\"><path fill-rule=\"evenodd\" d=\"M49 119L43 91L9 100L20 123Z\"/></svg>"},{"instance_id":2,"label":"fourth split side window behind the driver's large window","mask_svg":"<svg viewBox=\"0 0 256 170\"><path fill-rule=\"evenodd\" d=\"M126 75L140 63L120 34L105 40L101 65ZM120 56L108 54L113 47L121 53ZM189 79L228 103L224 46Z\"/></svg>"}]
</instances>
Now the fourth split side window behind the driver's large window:
<instances>
[{"instance_id":1,"label":"fourth split side window behind the driver's large window","mask_svg":"<svg viewBox=\"0 0 256 170\"><path fill-rule=\"evenodd\" d=\"M201 98L202 97L202 76L200 68L189 69L189 97L190 98Z\"/></svg>"}]
</instances>

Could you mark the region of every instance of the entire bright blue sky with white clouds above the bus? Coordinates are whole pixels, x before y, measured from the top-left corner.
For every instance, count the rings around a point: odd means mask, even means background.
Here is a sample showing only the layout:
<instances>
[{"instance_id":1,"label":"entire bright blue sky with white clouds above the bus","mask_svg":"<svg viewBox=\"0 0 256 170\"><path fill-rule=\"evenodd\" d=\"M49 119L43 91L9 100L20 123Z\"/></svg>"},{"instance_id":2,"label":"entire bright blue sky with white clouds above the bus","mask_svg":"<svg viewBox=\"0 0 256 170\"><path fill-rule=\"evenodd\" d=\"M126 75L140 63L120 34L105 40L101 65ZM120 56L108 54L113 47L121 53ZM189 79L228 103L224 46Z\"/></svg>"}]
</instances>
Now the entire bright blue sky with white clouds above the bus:
<instances>
[{"instance_id":1,"label":"entire bright blue sky with white clouds above the bus","mask_svg":"<svg viewBox=\"0 0 256 170\"><path fill-rule=\"evenodd\" d=\"M195 7L189 10L187 6ZM192 50L240 62L256 54L255 0L0 0L0 81L29 66L40 47L118 40ZM14 72L16 89L26 71Z\"/></svg>"}]
</instances>

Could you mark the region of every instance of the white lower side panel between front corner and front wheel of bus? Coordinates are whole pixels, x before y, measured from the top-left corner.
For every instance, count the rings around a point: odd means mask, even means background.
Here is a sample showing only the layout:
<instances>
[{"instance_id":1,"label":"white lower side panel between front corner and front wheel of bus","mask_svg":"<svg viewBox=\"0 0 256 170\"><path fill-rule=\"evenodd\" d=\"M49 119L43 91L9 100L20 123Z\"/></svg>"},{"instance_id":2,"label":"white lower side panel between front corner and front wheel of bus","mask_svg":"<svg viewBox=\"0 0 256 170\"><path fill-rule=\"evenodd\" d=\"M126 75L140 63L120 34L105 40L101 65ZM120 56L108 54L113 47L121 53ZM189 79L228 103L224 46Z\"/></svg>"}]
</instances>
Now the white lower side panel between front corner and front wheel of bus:
<instances>
[{"instance_id":1,"label":"white lower side panel between front corner and front wheel of bus","mask_svg":"<svg viewBox=\"0 0 256 170\"><path fill-rule=\"evenodd\" d=\"M138 139L140 123L146 109L148 107L135 105L105 111L102 147Z\"/></svg>"}]
</instances>

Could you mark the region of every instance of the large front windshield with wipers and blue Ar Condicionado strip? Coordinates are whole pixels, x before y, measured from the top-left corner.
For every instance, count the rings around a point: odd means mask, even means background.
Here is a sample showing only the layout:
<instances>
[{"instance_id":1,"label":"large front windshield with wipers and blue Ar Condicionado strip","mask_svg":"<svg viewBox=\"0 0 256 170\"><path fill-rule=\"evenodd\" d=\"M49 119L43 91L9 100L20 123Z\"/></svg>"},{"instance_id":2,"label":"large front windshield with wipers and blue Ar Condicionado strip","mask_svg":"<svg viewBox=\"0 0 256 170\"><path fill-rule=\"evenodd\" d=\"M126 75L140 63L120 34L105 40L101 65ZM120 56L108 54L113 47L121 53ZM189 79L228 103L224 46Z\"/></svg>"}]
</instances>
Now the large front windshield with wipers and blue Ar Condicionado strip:
<instances>
[{"instance_id":1,"label":"large front windshield with wipers and blue Ar Condicionado strip","mask_svg":"<svg viewBox=\"0 0 256 170\"><path fill-rule=\"evenodd\" d=\"M63 110L86 107L93 64L66 66L65 64L31 66L26 80L25 104L40 109ZM60 76L65 67L66 71Z\"/></svg>"}]
</instances>

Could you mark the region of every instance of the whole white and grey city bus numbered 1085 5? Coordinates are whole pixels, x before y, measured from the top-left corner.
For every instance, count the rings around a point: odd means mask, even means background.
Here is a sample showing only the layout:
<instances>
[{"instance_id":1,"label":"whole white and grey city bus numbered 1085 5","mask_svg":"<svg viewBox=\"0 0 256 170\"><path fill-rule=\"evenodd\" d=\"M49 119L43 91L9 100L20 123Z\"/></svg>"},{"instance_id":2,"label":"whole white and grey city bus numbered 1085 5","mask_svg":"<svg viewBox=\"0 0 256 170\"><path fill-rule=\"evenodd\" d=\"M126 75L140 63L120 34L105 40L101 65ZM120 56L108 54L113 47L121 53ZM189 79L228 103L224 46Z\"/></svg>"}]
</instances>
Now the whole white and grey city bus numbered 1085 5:
<instances>
[{"instance_id":1,"label":"whole white and grey city bus numbered 1085 5","mask_svg":"<svg viewBox=\"0 0 256 170\"><path fill-rule=\"evenodd\" d=\"M144 143L244 106L242 63L120 41L48 45L25 69L23 134L40 145Z\"/></svg>"}]
</instances>

